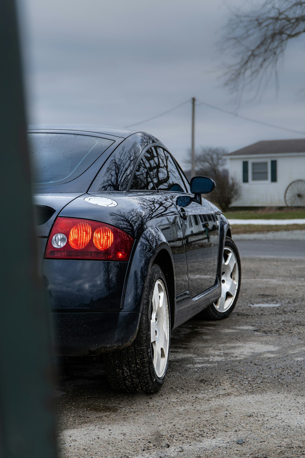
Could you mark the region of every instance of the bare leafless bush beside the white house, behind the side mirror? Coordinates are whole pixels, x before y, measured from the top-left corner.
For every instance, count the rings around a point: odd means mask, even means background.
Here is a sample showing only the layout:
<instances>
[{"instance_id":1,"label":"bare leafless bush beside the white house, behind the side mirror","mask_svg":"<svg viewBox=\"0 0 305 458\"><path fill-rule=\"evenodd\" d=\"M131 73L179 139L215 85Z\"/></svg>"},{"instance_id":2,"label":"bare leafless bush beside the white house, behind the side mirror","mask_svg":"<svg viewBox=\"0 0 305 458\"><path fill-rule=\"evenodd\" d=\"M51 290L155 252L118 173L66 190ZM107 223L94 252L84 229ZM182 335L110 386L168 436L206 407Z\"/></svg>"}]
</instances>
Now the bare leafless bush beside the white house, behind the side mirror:
<instances>
[{"instance_id":1,"label":"bare leafless bush beside the white house, behind the side mirror","mask_svg":"<svg viewBox=\"0 0 305 458\"><path fill-rule=\"evenodd\" d=\"M196 174L212 178L216 189L207 195L224 212L241 196L241 185L235 177L230 177L225 169L225 155L228 151L218 147L200 147L196 153ZM191 163L189 157L188 163Z\"/></svg>"}]
</instances>

